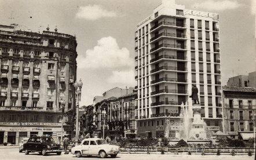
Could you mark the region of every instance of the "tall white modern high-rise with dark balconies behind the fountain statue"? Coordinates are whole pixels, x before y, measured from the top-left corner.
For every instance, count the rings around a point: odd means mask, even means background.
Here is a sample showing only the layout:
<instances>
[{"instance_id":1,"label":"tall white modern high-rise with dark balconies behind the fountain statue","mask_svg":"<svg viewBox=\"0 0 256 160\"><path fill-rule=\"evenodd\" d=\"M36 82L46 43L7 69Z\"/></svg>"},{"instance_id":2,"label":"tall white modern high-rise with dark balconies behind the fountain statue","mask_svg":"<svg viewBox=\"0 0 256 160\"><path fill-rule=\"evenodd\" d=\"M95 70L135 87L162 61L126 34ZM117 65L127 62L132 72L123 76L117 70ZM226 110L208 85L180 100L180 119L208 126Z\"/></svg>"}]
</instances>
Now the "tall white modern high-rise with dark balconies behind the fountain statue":
<instances>
[{"instance_id":1,"label":"tall white modern high-rise with dark balconies behind the fountain statue","mask_svg":"<svg viewBox=\"0 0 256 160\"><path fill-rule=\"evenodd\" d=\"M192 104L192 84L206 124L221 128L218 14L163 1L138 23L135 54L139 135L163 136L166 116L180 121L181 103Z\"/></svg>"}]
</instances>

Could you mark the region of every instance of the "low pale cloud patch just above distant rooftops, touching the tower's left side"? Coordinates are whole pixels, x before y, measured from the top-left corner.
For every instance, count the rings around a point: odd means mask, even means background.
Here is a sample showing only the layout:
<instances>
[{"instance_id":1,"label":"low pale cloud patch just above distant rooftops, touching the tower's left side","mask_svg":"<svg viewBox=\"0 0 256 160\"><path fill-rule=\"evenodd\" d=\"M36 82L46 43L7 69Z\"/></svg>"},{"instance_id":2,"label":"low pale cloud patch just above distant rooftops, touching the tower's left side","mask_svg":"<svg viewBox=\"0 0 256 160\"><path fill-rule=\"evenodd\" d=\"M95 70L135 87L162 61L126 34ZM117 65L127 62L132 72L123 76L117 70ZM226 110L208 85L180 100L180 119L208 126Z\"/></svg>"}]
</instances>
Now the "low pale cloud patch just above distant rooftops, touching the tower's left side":
<instances>
[{"instance_id":1,"label":"low pale cloud patch just above distant rooftops, touching the tower's left side","mask_svg":"<svg viewBox=\"0 0 256 160\"><path fill-rule=\"evenodd\" d=\"M125 70L125 71L113 71L112 75L107 79L108 83L112 84L125 84L126 86L134 86L134 71Z\"/></svg>"}]
</instances>

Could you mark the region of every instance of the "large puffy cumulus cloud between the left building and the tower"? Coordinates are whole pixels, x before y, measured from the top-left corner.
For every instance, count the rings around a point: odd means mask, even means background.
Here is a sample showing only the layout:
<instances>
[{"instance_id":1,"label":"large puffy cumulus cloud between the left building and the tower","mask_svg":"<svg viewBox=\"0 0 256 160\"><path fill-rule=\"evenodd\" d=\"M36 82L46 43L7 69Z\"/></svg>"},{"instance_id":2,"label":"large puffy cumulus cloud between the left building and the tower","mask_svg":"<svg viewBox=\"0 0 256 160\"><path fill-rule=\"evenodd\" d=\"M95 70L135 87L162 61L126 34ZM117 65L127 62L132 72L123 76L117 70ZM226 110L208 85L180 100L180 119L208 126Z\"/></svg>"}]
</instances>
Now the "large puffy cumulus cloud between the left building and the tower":
<instances>
[{"instance_id":1,"label":"large puffy cumulus cloud between the left building and the tower","mask_svg":"<svg viewBox=\"0 0 256 160\"><path fill-rule=\"evenodd\" d=\"M130 69L134 66L129 50L119 48L111 36L98 40L97 46L86 51L85 57L78 58L78 68Z\"/></svg>"}]
</instances>

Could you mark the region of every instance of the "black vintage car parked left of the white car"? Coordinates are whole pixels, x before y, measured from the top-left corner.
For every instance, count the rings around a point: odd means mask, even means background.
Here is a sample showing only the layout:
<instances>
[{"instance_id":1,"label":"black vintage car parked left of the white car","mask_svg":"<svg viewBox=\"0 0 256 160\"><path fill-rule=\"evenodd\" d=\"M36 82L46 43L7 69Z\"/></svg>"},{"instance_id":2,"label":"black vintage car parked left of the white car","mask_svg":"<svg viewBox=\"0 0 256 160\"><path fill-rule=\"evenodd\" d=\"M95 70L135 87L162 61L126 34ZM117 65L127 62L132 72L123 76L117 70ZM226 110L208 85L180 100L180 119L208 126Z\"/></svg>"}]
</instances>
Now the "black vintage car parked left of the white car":
<instances>
[{"instance_id":1,"label":"black vintage car parked left of the white car","mask_svg":"<svg viewBox=\"0 0 256 160\"><path fill-rule=\"evenodd\" d=\"M29 154L30 152L39 152L39 154L42 155L46 155L48 153L61 155L61 152L63 151L60 144L54 143L53 138L47 136L30 137L28 142L23 144L23 148L25 150L25 154Z\"/></svg>"}]
</instances>

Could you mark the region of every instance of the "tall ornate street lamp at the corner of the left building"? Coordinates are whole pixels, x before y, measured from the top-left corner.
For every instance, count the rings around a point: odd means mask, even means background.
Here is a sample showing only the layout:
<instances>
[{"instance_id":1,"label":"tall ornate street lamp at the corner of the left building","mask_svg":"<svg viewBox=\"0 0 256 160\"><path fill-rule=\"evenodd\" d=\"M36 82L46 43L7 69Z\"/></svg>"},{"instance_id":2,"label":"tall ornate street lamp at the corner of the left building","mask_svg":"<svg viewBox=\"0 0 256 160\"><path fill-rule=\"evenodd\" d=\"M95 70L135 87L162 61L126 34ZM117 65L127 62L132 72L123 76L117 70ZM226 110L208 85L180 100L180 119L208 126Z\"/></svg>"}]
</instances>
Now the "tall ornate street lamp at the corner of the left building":
<instances>
[{"instance_id":1,"label":"tall ornate street lamp at the corner of the left building","mask_svg":"<svg viewBox=\"0 0 256 160\"><path fill-rule=\"evenodd\" d=\"M74 87L75 87L75 105L76 105L76 119L75 119L75 146L78 146L78 118L79 118L79 101L81 101L81 89L82 89L83 83L80 79L78 82L75 81Z\"/></svg>"}]
</instances>

